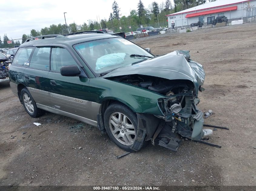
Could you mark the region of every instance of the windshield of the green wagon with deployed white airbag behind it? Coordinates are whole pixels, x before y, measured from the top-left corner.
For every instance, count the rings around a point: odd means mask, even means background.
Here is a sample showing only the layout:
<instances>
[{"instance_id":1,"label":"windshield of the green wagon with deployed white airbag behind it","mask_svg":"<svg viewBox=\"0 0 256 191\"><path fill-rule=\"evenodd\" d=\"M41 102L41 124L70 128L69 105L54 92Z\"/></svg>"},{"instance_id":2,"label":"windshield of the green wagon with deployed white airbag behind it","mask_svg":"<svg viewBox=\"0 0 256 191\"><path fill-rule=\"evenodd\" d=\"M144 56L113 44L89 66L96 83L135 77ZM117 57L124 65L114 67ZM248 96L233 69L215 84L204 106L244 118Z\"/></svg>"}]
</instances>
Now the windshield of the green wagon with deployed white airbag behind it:
<instances>
[{"instance_id":1,"label":"windshield of the green wagon with deployed white airbag behind it","mask_svg":"<svg viewBox=\"0 0 256 191\"><path fill-rule=\"evenodd\" d=\"M146 50L123 38L89 41L77 44L74 48L96 74L149 59L131 56L132 54L153 57Z\"/></svg>"}]
</instances>

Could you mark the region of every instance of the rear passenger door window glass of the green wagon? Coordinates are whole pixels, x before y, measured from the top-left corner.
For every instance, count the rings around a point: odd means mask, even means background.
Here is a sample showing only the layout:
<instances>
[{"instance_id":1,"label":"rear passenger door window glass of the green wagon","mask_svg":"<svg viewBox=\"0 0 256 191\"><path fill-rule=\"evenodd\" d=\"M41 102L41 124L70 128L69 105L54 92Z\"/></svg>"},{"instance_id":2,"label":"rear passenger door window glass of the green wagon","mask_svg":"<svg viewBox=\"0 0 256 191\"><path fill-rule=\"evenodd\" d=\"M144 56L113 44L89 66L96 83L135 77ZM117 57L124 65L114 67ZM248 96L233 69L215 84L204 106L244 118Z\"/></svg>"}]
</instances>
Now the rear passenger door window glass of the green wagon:
<instances>
[{"instance_id":1,"label":"rear passenger door window glass of the green wagon","mask_svg":"<svg viewBox=\"0 0 256 191\"><path fill-rule=\"evenodd\" d=\"M50 51L50 47L36 47L29 68L49 70Z\"/></svg>"}]
</instances>

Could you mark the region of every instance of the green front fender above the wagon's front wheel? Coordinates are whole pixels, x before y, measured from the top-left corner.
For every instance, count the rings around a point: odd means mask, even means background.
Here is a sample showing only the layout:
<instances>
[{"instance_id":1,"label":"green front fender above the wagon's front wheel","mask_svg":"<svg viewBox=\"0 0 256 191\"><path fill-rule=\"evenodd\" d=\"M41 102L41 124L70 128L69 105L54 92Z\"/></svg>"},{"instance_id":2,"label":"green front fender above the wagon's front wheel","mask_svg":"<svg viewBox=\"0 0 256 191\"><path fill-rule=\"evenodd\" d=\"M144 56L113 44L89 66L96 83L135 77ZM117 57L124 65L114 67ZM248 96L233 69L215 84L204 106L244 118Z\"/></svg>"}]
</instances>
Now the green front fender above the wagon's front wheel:
<instances>
[{"instance_id":1,"label":"green front fender above the wagon's front wheel","mask_svg":"<svg viewBox=\"0 0 256 191\"><path fill-rule=\"evenodd\" d=\"M162 115L157 100L164 96L144 88L105 78L91 78L90 92L92 101L96 103L117 100L135 113Z\"/></svg>"}]
</instances>

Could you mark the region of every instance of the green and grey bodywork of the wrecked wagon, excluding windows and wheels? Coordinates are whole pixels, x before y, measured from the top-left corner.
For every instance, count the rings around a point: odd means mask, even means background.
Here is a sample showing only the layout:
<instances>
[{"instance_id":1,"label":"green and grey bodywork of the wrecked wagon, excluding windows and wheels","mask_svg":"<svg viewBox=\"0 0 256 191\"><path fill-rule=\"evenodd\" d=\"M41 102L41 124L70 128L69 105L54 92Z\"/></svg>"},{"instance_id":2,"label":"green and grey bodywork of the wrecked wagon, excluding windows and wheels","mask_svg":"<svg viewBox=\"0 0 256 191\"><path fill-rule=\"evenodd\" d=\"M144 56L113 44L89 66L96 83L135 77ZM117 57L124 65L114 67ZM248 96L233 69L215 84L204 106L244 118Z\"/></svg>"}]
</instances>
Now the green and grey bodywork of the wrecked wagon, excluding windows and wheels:
<instances>
[{"instance_id":1,"label":"green and grey bodywork of the wrecked wagon, excluding windows and wheels","mask_svg":"<svg viewBox=\"0 0 256 191\"><path fill-rule=\"evenodd\" d=\"M19 86L27 87L35 96L39 108L48 109L55 113L62 111L59 114L73 117L94 126L100 125L101 105L109 100L119 101L137 113L138 116L140 135L135 139L136 144L132 148L134 150L138 150L140 141L144 141L146 135L152 136L162 122L165 122L164 127L162 127L163 130L168 132L178 131L181 136L191 137L192 140L200 140L204 136L202 131L204 120L202 112L197 108L199 102L197 96L200 86L204 83L205 74L200 64L190 60L189 51L174 51L166 55L144 59L140 63L125 65L98 77L73 47L81 41L118 37L107 34L90 34L82 40L81 37L83 36L86 35L81 34L81 36L72 36L67 39L58 35L58 38L22 44L21 48L25 46L61 46L67 49L77 63L81 75L63 76L60 72L51 71L50 66L48 69L40 70L29 68L28 65L12 64L9 69L12 91L18 94ZM164 80L170 84L173 81L189 82L190 89L183 94L167 95L166 92L159 93L140 87L138 83L125 83L119 80L122 77L135 75L138 78L152 77L156 81ZM179 91L184 91L184 89ZM171 112L170 106L172 105L168 105L175 103L175 101L170 101L172 96L179 97L176 102L184 98L183 102L179 103L180 105L183 104L179 113ZM159 102L161 101L166 101L167 104L160 105ZM67 115L67 113L71 113L71 115ZM148 124L151 120L155 120L157 123L151 126L150 123ZM174 121L176 125L173 123ZM104 125L102 128L104 129ZM166 134L166 136L169 135ZM171 140L174 140L177 145L175 138L172 137ZM171 148L171 150L177 151L177 148Z\"/></svg>"}]
</instances>

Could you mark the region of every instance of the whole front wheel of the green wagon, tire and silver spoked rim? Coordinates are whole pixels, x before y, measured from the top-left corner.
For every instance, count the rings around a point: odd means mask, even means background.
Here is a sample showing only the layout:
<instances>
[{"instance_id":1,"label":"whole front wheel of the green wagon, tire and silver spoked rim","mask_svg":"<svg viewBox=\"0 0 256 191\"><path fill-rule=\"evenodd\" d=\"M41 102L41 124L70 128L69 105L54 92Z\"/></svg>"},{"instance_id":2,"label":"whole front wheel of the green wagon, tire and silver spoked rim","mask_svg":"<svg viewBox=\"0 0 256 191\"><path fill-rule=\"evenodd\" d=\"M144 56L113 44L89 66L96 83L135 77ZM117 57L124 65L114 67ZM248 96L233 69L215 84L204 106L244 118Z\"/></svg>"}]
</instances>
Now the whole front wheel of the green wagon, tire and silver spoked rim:
<instances>
[{"instance_id":1,"label":"whole front wheel of the green wagon, tire and silver spoked rim","mask_svg":"<svg viewBox=\"0 0 256 191\"><path fill-rule=\"evenodd\" d=\"M136 138L138 119L129 107L112 103L104 113L104 125L108 136L118 147L134 152L131 146Z\"/></svg>"}]
</instances>

